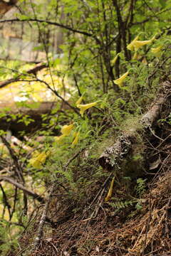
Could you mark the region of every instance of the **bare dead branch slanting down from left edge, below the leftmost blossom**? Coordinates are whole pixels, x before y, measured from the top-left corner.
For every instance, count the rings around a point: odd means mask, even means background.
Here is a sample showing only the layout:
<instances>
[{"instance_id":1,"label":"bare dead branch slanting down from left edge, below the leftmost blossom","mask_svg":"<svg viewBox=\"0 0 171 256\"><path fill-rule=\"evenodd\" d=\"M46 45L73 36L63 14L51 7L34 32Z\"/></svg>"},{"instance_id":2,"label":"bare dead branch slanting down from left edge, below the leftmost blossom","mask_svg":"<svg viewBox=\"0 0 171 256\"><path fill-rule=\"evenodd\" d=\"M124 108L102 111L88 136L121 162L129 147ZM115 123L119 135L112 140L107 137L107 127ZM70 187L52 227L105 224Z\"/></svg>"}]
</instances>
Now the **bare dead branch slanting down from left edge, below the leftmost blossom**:
<instances>
[{"instance_id":1,"label":"bare dead branch slanting down from left edge, below the leftmost blossom","mask_svg":"<svg viewBox=\"0 0 171 256\"><path fill-rule=\"evenodd\" d=\"M44 203L45 200L43 197L39 196L37 193L33 193L33 191L30 191L28 188L25 188L23 185L21 185L20 183L14 181L13 178L10 178L8 176L3 176L0 175L0 181L8 181L9 183L13 184L14 186L16 186L16 188L21 189L22 191L24 191L25 193L27 193L29 196L32 196L34 199L36 199L37 201Z\"/></svg>"}]
</instances>

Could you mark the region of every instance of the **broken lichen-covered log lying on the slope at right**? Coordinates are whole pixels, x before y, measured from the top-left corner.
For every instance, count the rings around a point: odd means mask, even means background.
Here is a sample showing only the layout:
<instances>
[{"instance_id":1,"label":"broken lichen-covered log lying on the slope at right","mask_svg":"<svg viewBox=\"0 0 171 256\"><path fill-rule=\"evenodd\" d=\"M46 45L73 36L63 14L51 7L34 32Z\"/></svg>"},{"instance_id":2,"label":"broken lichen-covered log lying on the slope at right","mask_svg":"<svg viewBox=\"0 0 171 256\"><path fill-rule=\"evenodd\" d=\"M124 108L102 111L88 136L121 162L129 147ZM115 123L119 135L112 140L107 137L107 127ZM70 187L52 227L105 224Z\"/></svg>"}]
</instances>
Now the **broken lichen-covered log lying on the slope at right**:
<instances>
[{"instance_id":1,"label":"broken lichen-covered log lying on the slope at right","mask_svg":"<svg viewBox=\"0 0 171 256\"><path fill-rule=\"evenodd\" d=\"M151 127L155 124L157 119L160 118L160 112L162 108L165 107L165 103L170 96L170 87L170 82L162 82L161 89L158 92L156 99L150 106L150 109L139 119L138 125L123 131L115 144L109 146L105 151L103 151L103 154L101 154L98 159L99 164L103 169L108 171L117 171L117 169L121 169L120 166L124 159L131 154L133 146L138 141L137 137L139 130L141 130L141 133L145 131L147 132L147 130L152 132ZM125 166L128 164L129 163L127 161Z\"/></svg>"}]
</instances>

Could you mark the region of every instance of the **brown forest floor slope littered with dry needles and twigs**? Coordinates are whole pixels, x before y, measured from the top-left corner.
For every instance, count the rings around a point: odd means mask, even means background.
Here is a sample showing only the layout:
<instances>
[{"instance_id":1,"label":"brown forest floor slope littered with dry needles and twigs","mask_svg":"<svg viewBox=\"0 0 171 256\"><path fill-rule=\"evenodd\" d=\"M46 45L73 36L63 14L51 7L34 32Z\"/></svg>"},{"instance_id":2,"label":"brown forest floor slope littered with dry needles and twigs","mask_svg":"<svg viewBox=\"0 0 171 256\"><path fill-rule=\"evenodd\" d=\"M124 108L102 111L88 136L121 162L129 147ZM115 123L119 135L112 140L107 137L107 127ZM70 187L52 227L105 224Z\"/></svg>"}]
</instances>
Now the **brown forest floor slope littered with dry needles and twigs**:
<instances>
[{"instance_id":1,"label":"brown forest floor slope littered with dry needles and twigs","mask_svg":"<svg viewBox=\"0 0 171 256\"><path fill-rule=\"evenodd\" d=\"M170 97L167 97L161 107L160 122L158 118L143 134L145 150L140 175L131 181L125 177L124 182L118 176L111 201L105 201L108 181L113 176L109 170L104 170L106 175L101 181L87 188L86 199L79 201L80 205L72 197L62 200L53 197L39 246L25 254L37 233L41 212L21 236L22 250L17 255L171 255L169 114ZM133 169L142 169L138 161L134 164Z\"/></svg>"}]
</instances>

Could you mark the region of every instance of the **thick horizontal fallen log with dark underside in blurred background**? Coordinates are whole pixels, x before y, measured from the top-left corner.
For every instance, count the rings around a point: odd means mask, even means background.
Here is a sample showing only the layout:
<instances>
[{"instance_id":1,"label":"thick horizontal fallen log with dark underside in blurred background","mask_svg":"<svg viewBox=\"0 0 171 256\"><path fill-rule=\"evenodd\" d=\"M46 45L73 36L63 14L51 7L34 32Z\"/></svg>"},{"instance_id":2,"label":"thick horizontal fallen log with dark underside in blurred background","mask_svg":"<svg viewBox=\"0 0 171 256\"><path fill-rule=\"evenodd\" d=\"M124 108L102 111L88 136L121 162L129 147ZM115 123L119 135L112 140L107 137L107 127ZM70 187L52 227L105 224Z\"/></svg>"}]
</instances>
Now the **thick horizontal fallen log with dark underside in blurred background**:
<instances>
[{"instance_id":1,"label":"thick horizontal fallen log with dark underside in blurred background","mask_svg":"<svg viewBox=\"0 0 171 256\"><path fill-rule=\"evenodd\" d=\"M31 107L31 104L35 106ZM42 114L48 114L48 117L51 117L51 111L54 110L57 105L59 105L59 107L55 114L68 109L65 102L30 102L28 103L28 107L19 107L15 103L1 103L0 129L4 131L11 130L14 136L18 136L22 131L26 134L36 132L36 130L41 129L42 124L46 123L42 119ZM32 119L28 124L24 122L26 117ZM21 119L23 119L23 122Z\"/></svg>"}]
</instances>

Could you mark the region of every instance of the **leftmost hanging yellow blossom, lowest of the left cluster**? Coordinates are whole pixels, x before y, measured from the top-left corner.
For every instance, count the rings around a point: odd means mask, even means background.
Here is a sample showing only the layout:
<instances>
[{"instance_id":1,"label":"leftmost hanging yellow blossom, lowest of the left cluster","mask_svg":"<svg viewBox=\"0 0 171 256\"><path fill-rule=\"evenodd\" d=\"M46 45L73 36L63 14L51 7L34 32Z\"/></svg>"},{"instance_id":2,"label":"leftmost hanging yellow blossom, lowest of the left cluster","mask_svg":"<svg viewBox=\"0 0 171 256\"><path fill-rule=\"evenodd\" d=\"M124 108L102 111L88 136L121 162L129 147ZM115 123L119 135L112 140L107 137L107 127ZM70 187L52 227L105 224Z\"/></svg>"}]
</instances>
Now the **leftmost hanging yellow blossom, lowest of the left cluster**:
<instances>
[{"instance_id":1,"label":"leftmost hanging yellow blossom, lowest of the left cluster","mask_svg":"<svg viewBox=\"0 0 171 256\"><path fill-rule=\"evenodd\" d=\"M36 152L36 154L34 154L34 157L29 160L29 164L31 164L36 169L41 169L49 154L51 154L50 151L42 153Z\"/></svg>"}]
</instances>

